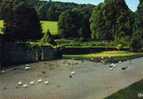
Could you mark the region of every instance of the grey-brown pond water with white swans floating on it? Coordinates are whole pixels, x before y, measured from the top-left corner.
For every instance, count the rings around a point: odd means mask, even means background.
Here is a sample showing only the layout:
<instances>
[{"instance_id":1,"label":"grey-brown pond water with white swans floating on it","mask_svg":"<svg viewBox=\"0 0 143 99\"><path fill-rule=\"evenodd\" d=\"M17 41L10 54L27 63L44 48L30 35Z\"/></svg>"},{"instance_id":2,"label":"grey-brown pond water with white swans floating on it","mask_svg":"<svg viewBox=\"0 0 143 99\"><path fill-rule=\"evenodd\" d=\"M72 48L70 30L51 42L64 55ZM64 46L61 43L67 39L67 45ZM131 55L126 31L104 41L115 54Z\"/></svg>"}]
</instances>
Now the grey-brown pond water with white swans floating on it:
<instances>
[{"instance_id":1,"label":"grey-brown pond water with white swans floating on it","mask_svg":"<svg viewBox=\"0 0 143 99\"><path fill-rule=\"evenodd\" d=\"M0 74L0 99L103 99L143 79L143 58L118 63L112 70L109 65L76 60L30 65L27 71L22 65ZM70 78L72 71L75 74ZM44 84L47 80L48 85ZM17 85L19 81L27 88Z\"/></svg>"}]
</instances>

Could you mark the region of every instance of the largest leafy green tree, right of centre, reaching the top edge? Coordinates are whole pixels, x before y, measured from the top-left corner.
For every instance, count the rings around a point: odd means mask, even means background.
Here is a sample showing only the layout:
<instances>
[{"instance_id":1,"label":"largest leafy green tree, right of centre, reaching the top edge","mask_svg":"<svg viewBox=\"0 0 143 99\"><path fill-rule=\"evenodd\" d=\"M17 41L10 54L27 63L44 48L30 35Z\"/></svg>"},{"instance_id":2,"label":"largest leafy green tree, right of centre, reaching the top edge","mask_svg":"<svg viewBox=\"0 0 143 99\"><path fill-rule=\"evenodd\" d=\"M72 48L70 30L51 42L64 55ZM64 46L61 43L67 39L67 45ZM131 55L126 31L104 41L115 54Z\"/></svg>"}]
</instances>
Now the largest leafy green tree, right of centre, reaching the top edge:
<instances>
[{"instance_id":1,"label":"largest leafy green tree, right of centre, reaching the top edge","mask_svg":"<svg viewBox=\"0 0 143 99\"><path fill-rule=\"evenodd\" d=\"M93 38L120 40L132 36L134 18L124 0L105 0L94 9L91 17Z\"/></svg>"}]
</instances>

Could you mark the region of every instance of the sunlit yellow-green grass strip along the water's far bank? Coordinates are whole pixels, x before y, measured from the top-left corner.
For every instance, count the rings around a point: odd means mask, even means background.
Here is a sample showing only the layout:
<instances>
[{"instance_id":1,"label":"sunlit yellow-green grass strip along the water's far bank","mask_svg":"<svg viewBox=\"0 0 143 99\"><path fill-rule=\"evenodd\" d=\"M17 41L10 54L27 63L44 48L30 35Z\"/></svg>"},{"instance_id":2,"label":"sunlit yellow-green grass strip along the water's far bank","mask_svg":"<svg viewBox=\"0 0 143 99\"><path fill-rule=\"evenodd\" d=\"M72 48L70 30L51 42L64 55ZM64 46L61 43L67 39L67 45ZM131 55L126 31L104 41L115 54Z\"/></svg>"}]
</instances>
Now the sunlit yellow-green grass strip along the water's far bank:
<instances>
[{"instance_id":1,"label":"sunlit yellow-green grass strip along the water's far bank","mask_svg":"<svg viewBox=\"0 0 143 99\"><path fill-rule=\"evenodd\" d=\"M102 51L99 53L91 53L91 54L80 54L80 55L64 55L65 58L82 58L82 59L90 59L90 58L126 58L126 57L138 57L143 56L143 53L134 53L128 51Z\"/></svg>"}]
</instances>

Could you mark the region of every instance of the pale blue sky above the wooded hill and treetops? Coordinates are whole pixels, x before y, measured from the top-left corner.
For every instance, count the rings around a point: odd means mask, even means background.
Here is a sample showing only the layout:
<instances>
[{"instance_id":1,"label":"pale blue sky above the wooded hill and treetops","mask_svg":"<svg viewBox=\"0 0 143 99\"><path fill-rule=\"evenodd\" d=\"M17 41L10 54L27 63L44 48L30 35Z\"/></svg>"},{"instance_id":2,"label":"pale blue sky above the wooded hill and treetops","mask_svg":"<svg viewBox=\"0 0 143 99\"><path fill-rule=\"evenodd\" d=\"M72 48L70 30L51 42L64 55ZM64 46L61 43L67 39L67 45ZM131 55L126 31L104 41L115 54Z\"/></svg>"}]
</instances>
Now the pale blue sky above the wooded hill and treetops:
<instances>
[{"instance_id":1,"label":"pale blue sky above the wooded hill and treetops","mask_svg":"<svg viewBox=\"0 0 143 99\"><path fill-rule=\"evenodd\" d=\"M104 0L53 0L53 1L63 1L63 2L75 2L75 3L81 3L81 4L99 4L103 2ZM135 11L137 9L137 6L139 4L139 0L125 0L128 7Z\"/></svg>"}]
</instances>

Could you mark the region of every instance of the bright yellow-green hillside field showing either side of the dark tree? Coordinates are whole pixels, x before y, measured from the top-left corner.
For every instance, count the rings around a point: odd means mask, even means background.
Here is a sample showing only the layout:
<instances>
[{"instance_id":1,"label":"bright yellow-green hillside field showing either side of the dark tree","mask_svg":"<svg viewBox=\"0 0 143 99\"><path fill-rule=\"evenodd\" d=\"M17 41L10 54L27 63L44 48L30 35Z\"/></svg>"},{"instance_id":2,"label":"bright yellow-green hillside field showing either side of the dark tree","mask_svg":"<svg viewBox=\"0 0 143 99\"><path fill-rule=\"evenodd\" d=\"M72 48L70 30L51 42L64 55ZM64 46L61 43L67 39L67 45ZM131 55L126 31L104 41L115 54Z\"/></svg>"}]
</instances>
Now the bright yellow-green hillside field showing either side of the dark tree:
<instances>
[{"instance_id":1,"label":"bright yellow-green hillside field showing either side of the dark tree","mask_svg":"<svg viewBox=\"0 0 143 99\"><path fill-rule=\"evenodd\" d=\"M41 21L43 32L47 32L49 29L52 35L58 35L58 25L57 22L54 21ZM3 21L0 20L0 32L2 32Z\"/></svg>"}]
</instances>

